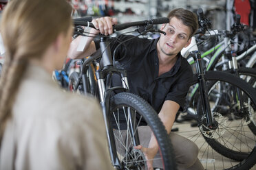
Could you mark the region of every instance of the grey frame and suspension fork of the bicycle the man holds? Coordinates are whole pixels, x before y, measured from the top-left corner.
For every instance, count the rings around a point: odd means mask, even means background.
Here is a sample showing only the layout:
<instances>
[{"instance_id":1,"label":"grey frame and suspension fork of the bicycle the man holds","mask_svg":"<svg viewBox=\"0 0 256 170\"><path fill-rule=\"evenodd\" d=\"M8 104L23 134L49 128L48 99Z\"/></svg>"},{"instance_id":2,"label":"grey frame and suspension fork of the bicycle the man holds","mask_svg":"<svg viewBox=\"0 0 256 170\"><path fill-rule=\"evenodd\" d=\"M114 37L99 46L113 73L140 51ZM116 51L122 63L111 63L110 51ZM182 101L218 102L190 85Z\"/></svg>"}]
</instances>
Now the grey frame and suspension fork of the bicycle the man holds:
<instances>
[{"instance_id":1,"label":"grey frame and suspension fork of the bicycle the man holds","mask_svg":"<svg viewBox=\"0 0 256 170\"><path fill-rule=\"evenodd\" d=\"M107 130L107 140L109 144L109 153L111 162L114 167L118 168L122 167L122 163L119 161L117 152L116 152L116 144L114 139L114 132L113 127L111 125L110 120L110 114L109 114L109 102L111 94L114 92L114 90L123 90L125 92L129 91L129 85L127 80L127 72L125 69L117 69L116 66L113 64L110 47L109 47L109 38L108 37L100 37L100 51L101 51L101 60L100 60L100 68L96 71L96 80L97 80L97 86L99 91L99 99L100 99L100 105L103 108L103 117L105 120L106 130ZM78 82L83 82L83 89L84 93L90 92L90 86L89 86L89 77L87 76L87 71L89 69L89 65L92 64L94 60L97 58L100 58L100 56L91 56L83 62L83 65L81 65L81 75L78 78ZM109 81L111 79L111 75L113 73L117 73L121 77L122 86L110 86ZM78 84L75 86L75 90L78 88ZM133 114L131 114L131 110L128 110L128 117L131 117L131 122L135 119ZM138 133L134 131L136 124L129 123L129 129L131 130L131 134L134 137L134 143L138 145L140 143Z\"/></svg>"}]
</instances>

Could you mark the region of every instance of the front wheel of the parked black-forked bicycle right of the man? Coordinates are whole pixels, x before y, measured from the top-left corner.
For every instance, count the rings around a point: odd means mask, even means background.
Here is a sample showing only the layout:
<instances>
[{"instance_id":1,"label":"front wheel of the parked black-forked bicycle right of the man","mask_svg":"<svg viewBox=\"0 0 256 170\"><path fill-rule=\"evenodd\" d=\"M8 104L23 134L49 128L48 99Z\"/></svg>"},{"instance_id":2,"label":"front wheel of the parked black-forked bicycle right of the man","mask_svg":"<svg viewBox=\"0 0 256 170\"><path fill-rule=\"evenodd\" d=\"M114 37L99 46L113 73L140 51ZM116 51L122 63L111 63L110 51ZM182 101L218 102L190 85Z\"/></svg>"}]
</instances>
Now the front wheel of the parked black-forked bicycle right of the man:
<instances>
[{"instance_id":1,"label":"front wheel of the parked black-forked bicycle right of the man","mask_svg":"<svg viewBox=\"0 0 256 170\"><path fill-rule=\"evenodd\" d=\"M237 161L246 159L247 161L237 165L230 161L231 167L249 169L256 162L256 155L248 157L256 144L256 132L253 132L256 126L256 93L246 82L230 74L209 72L205 79L216 127L210 128L206 125L207 118L199 99L198 126L200 131L206 142L221 156L225 156L225 159Z\"/></svg>"}]
</instances>

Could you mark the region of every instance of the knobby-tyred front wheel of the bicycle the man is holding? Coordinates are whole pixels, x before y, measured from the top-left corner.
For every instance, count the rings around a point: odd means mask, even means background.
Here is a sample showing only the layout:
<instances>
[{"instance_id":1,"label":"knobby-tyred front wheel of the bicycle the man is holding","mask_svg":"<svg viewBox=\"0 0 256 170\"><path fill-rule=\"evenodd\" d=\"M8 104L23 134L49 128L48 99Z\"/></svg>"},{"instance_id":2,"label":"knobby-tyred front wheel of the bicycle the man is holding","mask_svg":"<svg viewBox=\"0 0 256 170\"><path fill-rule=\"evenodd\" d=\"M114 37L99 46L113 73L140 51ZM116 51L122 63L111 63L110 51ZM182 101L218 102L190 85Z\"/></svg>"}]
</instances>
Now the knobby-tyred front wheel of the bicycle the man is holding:
<instances>
[{"instance_id":1,"label":"knobby-tyred front wheel of the bicycle the man is holding","mask_svg":"<svg viewBox=\"0 0 256 170\"><path fill-rule=\"evenodd\" d=\"M127 162L127 157L131 156L131 154L134 154L134 153L138 154L140 152L138 150L137 152L134 151L134 149L132 149L131 147L131 145L134 145L134 143L131 142L133 141L133 138L131 138L131 135L129 135L131 131L129 130L129 128L127 128L129 127L129 117L127 119L127 112L125 110L125 107L133 110L133 113L137 118L136 120L138 122L136 123L138 123L138 125L140 125L140 123L142 122L141 120L144 119L147 125L151 128L153 134L156 136L156 139L158 141L159 150L162 155L162 161L164 162L164 169L175 169L176 166L173 158L173 149L172 149L171 141L167 136L167 131L165 130L164 125L162 124L162 121L160 121L158 114L147 103L147 101L131 93L118 93L114 95L114 97L111 97L111 101L110 101L110 110L111 110L110 113L111 113L112 125L114 127L116 146L119 146L117 147L117 149L119 148L119 150L120 150L120 146L123 147L122 149L125 149L125 153L119 154L120 161L123 164L125 164ZM125 110L125 111L121 111L121 110ZM121 117L126 117L125 121L124 119L121 119ZM124 125L126 125L126 127L123 127ZM135 132L138 132L139 128L140 126L136 126ZM125 141L122 141L123 139L122 137L120 137L120 135L122 135L123 133L127 133L127 136L125 136L126 138ZM126 143L128 143L127 141L129 141L129 139L130 139L130 142L128 146ZM138 158L142 158L142 157L138 156ZM134 159L134 158L129 158L129 159ZM132 165L127 163L125 164L125 168L129 169L129 167L132 167L133 164L138 164L138 162L136 161L137 160L130 160ZM145 163L145 159L142 162Z\"/></svg>"}]
</instances>

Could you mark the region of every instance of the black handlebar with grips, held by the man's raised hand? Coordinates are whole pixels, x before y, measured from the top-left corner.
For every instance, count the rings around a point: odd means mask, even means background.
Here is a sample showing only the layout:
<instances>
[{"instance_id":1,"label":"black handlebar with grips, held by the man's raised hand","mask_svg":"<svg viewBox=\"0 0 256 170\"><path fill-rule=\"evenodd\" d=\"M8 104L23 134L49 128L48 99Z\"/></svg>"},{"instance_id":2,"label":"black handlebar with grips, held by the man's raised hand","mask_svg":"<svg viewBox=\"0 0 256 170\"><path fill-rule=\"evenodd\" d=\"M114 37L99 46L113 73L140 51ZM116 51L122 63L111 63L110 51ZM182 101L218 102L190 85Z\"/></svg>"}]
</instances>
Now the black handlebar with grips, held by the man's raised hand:
<instances>
[{"instance_id":1,"label":"black handlebar with grips, held by the man's raised hand","mask_svg":"<svg viewBox=\"0 0 256 170\"><path fill-rule=\"evenodd\" d=\"M89 20L89 19L88 19ZM90 23L91 21L86 21L85 19L73 19L74 25L75 26L88 26L89 22L89 27L92 27L95 29L94 25ZM136 21L136 22L131 22L131 23L121 23L121 24L116 24L113 25L113 29L115 31L120 31L122 29L126 29L128 27L134 27L134 26L145 26L149 24L163 24L163 23L169 23L169 19L166 17L158 18L158 19L150 19L150 20L144 20L144 21Z\"/></svg>"}]
</instances>

